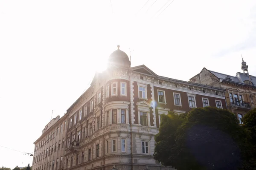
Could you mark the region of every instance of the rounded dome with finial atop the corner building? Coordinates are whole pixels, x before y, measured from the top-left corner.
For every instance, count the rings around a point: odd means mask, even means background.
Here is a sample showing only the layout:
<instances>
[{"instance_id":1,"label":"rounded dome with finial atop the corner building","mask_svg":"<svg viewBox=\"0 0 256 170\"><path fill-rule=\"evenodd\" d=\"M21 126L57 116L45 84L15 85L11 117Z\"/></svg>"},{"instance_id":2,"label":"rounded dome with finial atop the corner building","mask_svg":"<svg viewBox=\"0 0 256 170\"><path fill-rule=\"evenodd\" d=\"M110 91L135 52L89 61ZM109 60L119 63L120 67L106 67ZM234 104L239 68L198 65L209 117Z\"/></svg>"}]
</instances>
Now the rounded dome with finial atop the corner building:
<instances>
[{"instance_id":1,"label":"rounded dome with finial atop the corner building","mask_svg":"<svg viewBox=\"0 0 256 170\"><path fill-rule=\"evenodd\" d=\"M128 55L121 51L120 45L117 45L117 50L113 51L108 57L108 67L116 67L116 68L130 68L131 61L129 60Z\"/></svg>"}]
</instances>

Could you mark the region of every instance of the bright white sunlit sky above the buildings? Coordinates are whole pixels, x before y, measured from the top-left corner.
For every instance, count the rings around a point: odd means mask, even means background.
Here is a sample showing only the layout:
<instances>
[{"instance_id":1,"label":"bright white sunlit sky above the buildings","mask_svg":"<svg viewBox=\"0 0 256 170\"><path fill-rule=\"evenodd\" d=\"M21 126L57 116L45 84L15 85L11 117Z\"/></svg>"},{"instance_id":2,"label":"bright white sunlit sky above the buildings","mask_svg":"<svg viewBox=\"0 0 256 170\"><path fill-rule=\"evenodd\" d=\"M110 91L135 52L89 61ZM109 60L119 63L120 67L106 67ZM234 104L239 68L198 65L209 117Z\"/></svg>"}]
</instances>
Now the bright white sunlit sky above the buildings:
<instances>
[{"instance_id":1,"label":"bright white sunlit sky above the buildings","mask_svg":"<svg viewBox=\"0 0 256 170\"><path fill-rule=\"evenodd\" d=\"M235 76L241 54L256 75L255 0L147 1L112 0L112 13L110 0L1 0L0 146L32 153L52 110L63 116L118 44L161 76ZM32 164L4 147L0 166Z\"/></svg>"}]
</instances>

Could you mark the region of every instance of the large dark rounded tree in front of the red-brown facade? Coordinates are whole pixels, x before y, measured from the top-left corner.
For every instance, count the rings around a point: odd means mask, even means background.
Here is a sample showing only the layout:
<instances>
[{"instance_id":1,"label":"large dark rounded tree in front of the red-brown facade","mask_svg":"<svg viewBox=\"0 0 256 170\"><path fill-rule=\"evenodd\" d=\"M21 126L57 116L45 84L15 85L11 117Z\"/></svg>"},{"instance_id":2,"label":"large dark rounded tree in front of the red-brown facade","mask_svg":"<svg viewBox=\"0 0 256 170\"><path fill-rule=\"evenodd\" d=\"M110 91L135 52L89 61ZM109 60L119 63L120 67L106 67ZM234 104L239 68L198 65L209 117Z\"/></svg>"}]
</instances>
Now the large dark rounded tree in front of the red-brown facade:
<instances>
[{"instance_id":1,"label":"large dark rounded tree in front of the red-brown facade","mask_svg":"<svg viewBox=\"0 0 256 170\"><path fill-rule=\"evenodd\" d=\"M233 113L212 107L169 112L155 136L154 158L177 170L253 170L253 146Z\"/></svg>"}]
</instances>

